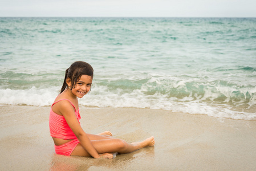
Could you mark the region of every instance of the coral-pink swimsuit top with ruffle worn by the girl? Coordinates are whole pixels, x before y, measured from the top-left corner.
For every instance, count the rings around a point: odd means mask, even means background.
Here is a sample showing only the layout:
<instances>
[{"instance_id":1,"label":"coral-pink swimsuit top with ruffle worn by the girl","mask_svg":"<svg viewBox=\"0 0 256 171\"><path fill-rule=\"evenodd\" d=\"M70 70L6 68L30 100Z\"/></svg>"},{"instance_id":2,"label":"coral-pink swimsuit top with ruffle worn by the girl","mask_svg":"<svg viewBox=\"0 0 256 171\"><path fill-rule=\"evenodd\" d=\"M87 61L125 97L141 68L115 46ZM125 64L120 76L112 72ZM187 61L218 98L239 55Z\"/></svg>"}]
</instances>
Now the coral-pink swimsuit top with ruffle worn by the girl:
<instances>
[{"instance_id":1,"label":"coral-pink swimsuit top with ruffle worn by the girl","mask_svg":"<svg viewBox=\"0 0 256 171\"><path fill-rule=\"evenodd\" d=\"M68 100L68 99L60 99L58 101L55 101L52 105L54 105L55 103L58 103L61 100ZM71 103L70 100L68 101ZM72 104L72 106L75 108L74 104ZM77 111L75 108L75 115L76 115L76 119L78 119L78 122L79 122L79 120L81 119L79 108ZM52 108L50 111L49 127L50 127L50 135L54 138L65 139L65 140L76 139L74 132L72 132L71 128L68 126L64 116L58 115L57 113L52 111Z\"/></svg>"}]
</instances>

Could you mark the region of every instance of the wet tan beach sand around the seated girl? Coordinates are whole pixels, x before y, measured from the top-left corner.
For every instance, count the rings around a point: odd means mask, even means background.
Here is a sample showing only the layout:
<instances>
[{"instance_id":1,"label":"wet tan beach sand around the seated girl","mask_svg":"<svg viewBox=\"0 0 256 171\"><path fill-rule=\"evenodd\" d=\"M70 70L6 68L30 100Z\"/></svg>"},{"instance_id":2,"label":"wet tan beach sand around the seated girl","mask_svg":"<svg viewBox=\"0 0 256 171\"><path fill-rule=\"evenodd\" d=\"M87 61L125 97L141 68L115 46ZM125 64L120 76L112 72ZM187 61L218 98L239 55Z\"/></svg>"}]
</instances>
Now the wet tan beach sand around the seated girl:
<instances>
[{"instance_id":1,"label":"wet tan beach sand around the seated girl","mask_svg":"<svg viewBox=\"0 0 256 171\"><path fill-rule=\"evenodd\" d=\"M80 108L88 133L111 131L154 147L115 159L67 157L54 152L50 107L0 106L0 170L256 170L256 121L163 110Z\"/></svg>"}]
</instances>

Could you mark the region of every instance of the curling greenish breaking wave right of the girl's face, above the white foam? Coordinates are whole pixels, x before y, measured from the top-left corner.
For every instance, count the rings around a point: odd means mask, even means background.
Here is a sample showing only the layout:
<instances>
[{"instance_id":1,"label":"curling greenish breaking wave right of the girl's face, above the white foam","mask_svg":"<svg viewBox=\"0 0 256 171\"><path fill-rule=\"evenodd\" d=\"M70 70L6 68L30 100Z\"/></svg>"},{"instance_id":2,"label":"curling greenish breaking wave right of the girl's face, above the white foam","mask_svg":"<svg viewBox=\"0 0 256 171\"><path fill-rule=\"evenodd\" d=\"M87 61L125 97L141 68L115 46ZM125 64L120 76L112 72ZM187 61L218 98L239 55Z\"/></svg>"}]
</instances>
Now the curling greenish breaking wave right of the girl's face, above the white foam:
<instances>
[{"instance_id":1,"label":"curling greenish breaking wave right of the girl's face, above the white foam","mask_svg":"<svg viewBox=\"0 0 256 171\"><path fill-rule=\"evenodd\" d=\"M143 96L159 93L166 98L175 97L178 100L189 97L193 100L220 101L222 103L250 101L256 92L255 86L225 80L191 78L185 75L180 76L180 78L176 76L169 78L166 76L148 76L144 79L102 79L98 82L98 86L107 87L109 91L113 92L116 89L121 89L121 93L138 90L143 93Z\"/></svg>"}]
</instances>

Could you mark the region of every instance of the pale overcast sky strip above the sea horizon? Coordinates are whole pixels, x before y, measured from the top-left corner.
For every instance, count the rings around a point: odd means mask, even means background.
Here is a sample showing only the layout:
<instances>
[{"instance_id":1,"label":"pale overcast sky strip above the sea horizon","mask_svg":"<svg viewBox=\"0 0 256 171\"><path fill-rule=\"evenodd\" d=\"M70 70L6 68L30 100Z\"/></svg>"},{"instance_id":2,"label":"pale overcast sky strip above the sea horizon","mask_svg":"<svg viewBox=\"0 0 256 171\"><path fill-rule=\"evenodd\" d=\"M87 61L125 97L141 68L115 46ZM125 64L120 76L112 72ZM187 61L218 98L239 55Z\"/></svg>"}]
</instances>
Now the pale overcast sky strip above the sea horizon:
<instances>
[{"instance_id":1,"label":"pale overcast sky strip above the sea horizon","mask_svg":"<svg viewBox=\"0 0 256 171\"><path fill-rule=\"evenodd\" d=\"M256 17L256 0L0 0L0 17Z\"/></svg>"}]
</instances>

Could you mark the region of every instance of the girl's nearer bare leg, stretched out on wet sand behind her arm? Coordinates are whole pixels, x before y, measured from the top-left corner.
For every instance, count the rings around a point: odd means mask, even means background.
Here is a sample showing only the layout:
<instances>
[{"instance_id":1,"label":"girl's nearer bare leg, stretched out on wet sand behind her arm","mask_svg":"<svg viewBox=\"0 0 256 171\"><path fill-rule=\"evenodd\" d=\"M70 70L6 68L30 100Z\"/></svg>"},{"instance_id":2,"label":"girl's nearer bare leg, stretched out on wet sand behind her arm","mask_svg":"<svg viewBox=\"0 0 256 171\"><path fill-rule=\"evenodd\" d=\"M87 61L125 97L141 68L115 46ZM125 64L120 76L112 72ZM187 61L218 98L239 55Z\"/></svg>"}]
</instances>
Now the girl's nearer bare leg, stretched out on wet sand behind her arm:
<instances>
[{"instance_id":1,"label":"girl's nearer bare leg, stretched out on wet sand behind her arm","mask_svg":"<svg viewBox=\"0 0 256 171\"><path fill-rule=\"evenodd\" d=\"M155 145L154 137L150 137L139 143L126 143L121 139L103 139L91 141L99 154L102 153L131 153L137 149ZM79 143L71 156L91 156Z\"/></svg>"}]
</instances>

